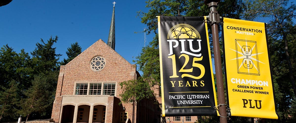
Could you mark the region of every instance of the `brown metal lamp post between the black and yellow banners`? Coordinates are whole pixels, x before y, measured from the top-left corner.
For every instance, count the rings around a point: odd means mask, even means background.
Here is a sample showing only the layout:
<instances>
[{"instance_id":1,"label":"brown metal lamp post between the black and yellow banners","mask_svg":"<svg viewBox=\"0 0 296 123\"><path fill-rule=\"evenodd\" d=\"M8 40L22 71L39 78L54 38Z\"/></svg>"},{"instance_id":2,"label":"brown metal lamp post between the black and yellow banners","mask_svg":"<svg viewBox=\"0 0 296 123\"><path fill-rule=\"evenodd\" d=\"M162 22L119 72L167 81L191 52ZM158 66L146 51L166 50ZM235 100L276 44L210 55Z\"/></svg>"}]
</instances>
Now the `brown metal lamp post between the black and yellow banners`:
<instances>
[{"instance_id":1,"label":"brown metal lamp post between the black and yellow banners","mask_svg":"<svg viewBox=\"0 0 296 123\"><path fill-rule=\"evenodd\" d=\"M221 105L226 103L225 103L225 96L224 96L224 85L223 85L223 77L222 77L222 65L221 65L221 55L220 55L218 24L217 24L218 22L220 22L220 16L216 11L218 2L220 2L220 0L204 0L204 3L210 7L209 15L210 15L211 28L212 28L212 37L213 37L218 102L220 105L218 107L219 114L220 114L220 123L227 123L226 106Z\"/></svg>"}]
</instances>

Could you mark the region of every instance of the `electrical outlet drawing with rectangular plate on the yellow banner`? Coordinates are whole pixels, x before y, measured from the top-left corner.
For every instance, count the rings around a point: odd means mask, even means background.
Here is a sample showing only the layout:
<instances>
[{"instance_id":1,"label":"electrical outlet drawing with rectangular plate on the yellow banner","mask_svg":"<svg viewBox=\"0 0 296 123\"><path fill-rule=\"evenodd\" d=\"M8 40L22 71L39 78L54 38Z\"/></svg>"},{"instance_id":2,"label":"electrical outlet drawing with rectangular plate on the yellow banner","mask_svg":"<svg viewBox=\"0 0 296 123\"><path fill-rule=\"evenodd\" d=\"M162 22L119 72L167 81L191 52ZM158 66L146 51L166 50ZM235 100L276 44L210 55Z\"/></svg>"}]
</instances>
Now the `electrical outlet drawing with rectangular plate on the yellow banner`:
<instances>
[{"instance_id":1,"label":"electrical outlet drawing with rectangular plate on the yellow banner","mask_svg":"<svg viewBox=\"0 0 296 123\"><path fill-rule=\"evenodd\" d=\"M260 75L257 42L235 39L237 73Z\"/></svg>"}]
</instances>

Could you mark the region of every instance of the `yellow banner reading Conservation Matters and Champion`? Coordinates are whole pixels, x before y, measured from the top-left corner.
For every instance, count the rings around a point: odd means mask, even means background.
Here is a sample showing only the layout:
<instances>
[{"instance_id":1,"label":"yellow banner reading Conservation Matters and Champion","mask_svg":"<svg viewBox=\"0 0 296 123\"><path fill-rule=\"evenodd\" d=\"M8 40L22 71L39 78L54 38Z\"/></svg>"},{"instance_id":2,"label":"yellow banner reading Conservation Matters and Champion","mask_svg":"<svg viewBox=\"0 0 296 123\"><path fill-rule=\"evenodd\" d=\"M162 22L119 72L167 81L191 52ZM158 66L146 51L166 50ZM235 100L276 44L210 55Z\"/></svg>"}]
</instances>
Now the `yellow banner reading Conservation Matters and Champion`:
<instances>
[{"instance_id":1,"label":"yellow banner reading Conservation Matters and Champion","mask_svg":"<svg viewBox=\"0 0 296 123\"><path fill-rule=\"evenodd\" d=\"M277 119L265 23L229 18L223 21L231 116Z\"/></svg>"}]
</instances>

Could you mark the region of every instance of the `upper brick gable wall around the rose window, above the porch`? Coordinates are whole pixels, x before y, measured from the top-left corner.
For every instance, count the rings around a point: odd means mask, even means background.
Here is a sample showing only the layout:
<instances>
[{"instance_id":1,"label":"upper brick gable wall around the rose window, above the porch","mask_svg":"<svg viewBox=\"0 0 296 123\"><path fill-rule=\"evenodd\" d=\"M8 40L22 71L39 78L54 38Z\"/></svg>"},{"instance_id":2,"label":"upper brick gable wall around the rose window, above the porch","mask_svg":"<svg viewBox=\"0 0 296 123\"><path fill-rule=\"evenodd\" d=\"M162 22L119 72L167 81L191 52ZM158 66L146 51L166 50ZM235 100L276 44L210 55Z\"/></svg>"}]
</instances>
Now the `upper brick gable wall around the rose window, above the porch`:
<instances>
[{"instance_id":1,"label":"upper brick gable wall around the rose window, above the porch","mask_svg":"<svg viewBox=\"0 0 296 123\"><path fill-rule=\"evenodd\" d=\"M103 70L91 70L90 61L95 56L105 58ZM104 41L99 40L87 48L83 53L70 61L64 68L64 79L61 95L73 95L75 82L122 82L134 79L135 65L131 65ZM117 84L117 95L121 93Z\"/></svg>"}]
</instances>

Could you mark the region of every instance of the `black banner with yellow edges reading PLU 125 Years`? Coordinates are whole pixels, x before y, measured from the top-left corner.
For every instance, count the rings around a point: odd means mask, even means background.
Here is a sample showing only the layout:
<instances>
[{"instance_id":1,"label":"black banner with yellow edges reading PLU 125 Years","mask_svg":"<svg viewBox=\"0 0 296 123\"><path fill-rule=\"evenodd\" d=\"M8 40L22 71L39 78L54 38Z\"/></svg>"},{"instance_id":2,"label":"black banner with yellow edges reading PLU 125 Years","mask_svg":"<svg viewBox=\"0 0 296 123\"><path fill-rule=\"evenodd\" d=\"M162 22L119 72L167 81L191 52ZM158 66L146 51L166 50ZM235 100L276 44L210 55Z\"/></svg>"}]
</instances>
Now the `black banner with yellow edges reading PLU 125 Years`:
<instances>
[{"instance_id":1,"label":"black banner with yellow edges reading PLU 125 Years","mask_svg":"<svg viewBox=\"0 0 296 123\"><path fill-rule=\"evenodd\" d=\"M218 115L204 17L158 17L163 117Z\"/></svg>"}]
</instances>

